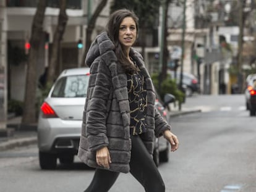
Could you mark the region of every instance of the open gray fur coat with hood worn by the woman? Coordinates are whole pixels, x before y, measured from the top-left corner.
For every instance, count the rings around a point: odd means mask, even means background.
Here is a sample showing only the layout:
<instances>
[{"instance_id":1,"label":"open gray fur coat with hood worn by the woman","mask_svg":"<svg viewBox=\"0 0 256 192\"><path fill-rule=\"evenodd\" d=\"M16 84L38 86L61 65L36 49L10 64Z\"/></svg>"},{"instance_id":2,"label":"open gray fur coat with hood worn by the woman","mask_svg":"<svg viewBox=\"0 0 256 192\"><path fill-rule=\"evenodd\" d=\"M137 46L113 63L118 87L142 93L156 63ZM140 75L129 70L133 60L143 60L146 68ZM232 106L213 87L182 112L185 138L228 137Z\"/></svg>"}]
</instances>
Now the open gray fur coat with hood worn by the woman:
<instances>
[{"instance_id":1,"label":"open gray fur coat with hood worn by the woman","mask_svg":"<svg viewBox=\"0 0 256 192\"><path fill-rule=\"evenodd\" d=\"M171 129L155 109L155 93L150 75L139 52L130 49L130 56L139 65L147 86L147 132L143 143L153 153L154 137ZM90 67L90 80L83 112L82 135L78 156L90 167L96 164L96 150L108 146L112 163L109 170L127 173L130 170L130 114L127 76L117 62L114 44L101 33L93 41L85 64Z\"/></svg>"}]
</instances>

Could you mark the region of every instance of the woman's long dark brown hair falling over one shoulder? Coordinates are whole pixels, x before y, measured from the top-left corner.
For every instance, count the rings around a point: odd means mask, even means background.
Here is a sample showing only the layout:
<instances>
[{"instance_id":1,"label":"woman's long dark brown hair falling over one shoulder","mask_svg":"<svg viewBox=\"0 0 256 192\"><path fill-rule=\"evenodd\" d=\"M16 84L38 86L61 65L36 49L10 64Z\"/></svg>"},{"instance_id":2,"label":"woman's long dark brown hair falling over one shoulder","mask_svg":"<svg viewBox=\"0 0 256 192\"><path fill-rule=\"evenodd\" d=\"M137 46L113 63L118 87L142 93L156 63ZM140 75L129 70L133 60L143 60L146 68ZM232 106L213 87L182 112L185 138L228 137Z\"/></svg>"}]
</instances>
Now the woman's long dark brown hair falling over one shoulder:
<instances>
[{"instance_id":1,"label":"woman's long dark brown hair falling over one shoulder","mask_svg":"<svg viewBox=\"0 0 256 192\"><path fill-rule=\"evenodd\" d=\"M124 18L126 17L132 17L132 19L134 20L138 36L139 18L137 17L137 15L134 14L134 12L128 9L119 9L113 12L113 14L109 16L108 24L106 25L106 31L110 40L114 43L114 46L116 48L116 57L118 61L127 73L134 73L137 69L128 61L126 53L124 49L122 49L122 46L119 42L119 27L122 23L122 20L124 20Z\"/></svg>"}]
</instances>

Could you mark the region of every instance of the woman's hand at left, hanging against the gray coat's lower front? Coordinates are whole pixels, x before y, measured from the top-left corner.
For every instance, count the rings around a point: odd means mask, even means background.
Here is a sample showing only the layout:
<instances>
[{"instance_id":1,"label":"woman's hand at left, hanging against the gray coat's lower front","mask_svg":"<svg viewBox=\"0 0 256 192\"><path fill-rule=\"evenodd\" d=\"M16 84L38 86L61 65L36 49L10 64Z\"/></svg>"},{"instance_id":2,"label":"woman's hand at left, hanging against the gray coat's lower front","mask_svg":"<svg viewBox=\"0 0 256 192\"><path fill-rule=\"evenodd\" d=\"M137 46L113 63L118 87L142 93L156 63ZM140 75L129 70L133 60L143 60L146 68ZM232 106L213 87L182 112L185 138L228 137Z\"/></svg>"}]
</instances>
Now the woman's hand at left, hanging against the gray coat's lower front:
<instances>
[{"instance_id":1,"label":"woman's hand at left, hanging against the gray coat's lower front","mask_svg":"<svg viewBox=\"0 0 256 192\"><path fill-rule=\"evenodd\" d=\"M111 159L110 159L110 155L107 147L98 149L96 151L96 162L98 165L109 169L109 164L111 164Z\"/></svg>"}]
</instances>

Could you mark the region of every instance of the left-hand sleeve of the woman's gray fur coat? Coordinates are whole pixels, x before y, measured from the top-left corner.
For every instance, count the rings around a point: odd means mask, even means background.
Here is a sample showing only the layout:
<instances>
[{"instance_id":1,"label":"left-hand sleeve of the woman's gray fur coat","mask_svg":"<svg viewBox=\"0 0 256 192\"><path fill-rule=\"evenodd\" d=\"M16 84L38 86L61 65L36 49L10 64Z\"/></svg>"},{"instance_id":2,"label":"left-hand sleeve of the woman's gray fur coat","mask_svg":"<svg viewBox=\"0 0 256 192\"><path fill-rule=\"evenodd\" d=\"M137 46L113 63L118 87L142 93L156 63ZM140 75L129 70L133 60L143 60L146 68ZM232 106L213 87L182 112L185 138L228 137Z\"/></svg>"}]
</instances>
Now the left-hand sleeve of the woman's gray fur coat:
<instances>
[{"instance_id":1,"label":"left-hand sleeve of the woman's gray fur coat","mask_svg":"<svg viewBox=\"0 0 256 192\"><path fill-rule=\"evenodd\" d=\"M87 114L85 114L83 124L86 122L87 132L85 134L88 138L88 149L92 151L108 146L109 143L106 136L106 119L111 77L108 71L108 67L101 59L96 59L91 65L89 95L85 106Z\"/></svg>"}]
</instances>

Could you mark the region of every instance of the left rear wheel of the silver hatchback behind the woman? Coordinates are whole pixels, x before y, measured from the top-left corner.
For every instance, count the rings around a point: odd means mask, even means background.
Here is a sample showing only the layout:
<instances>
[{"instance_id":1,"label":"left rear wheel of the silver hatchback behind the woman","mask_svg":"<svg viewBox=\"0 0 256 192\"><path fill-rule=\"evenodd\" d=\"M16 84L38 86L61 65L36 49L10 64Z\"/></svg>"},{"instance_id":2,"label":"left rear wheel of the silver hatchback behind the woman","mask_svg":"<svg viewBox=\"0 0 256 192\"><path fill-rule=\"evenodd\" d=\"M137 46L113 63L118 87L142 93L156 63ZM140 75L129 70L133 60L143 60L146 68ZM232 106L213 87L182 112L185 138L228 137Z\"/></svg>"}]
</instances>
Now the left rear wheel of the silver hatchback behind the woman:
<instances>
[{"instance_id":1,"label":"left rear wheel of the silver hatchback behind the woman","mask_svg":"<svg viewBox=\"0 0 256 192\"><path fill-rule=\"evenodd\" d=\"M57 157L47 152L39 152L39 162L41 169L56 169Z\"/></svg>"}]
</instances>

